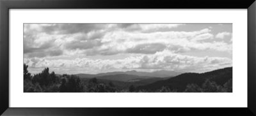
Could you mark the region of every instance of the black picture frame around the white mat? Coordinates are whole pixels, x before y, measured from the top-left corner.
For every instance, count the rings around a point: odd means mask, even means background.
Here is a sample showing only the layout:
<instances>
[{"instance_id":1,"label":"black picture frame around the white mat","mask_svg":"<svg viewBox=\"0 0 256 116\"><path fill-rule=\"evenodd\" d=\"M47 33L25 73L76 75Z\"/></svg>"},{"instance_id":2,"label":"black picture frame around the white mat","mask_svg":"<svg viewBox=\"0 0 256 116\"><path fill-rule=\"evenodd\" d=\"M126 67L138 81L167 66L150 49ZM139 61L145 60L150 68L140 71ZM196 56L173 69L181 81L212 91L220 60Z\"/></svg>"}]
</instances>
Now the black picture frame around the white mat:
<instances>
[{"instance_id":1,"label":"black picture frame around the white mat","mask_svg":"<svg viewBox=\"0 0 256 116\"><path fill-rule=\"evenodd\" d=\"M9 10L20 8L243 8L248 10L247 108L10 108ZM1 0L0 1L0 114L2 115L256 115L255 0ZM200 101L198 101L200 102ZM234 101L235 102L235 101Z\"/></svg>"}]
</instances>

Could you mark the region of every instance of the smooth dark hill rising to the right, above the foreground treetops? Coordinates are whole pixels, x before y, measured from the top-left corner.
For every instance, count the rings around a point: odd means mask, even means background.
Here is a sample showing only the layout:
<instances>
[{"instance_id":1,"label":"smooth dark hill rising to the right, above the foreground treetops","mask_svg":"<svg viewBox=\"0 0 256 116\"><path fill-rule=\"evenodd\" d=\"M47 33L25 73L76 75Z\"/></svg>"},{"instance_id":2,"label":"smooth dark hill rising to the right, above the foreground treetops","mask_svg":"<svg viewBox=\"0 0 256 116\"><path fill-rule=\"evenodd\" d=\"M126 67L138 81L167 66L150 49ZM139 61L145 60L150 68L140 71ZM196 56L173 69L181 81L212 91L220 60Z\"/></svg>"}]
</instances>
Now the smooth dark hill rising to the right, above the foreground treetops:
<instances>
[{"instance_id":1,"label":"smooth dark hill rising to the right, above the foreground treetops","mask_svg":"<svg viewBox=\"0 0 256 116\"><path fill-rule=\"evenodd\" d=\"M225 82L232 78L232 67L217 69L214 71L209 71L207 73L183 73L181 75L166 79L159 80L148 85L142 85L138 89L145 90L156 90L163 86L170 87L172 89L177 89L177 91L182 92L186 89L186 85L189 83L195 83L197 85L202 85L205 80L209 78L216 82L218 85L223 85Z\"/></svg>"}]
</instances>

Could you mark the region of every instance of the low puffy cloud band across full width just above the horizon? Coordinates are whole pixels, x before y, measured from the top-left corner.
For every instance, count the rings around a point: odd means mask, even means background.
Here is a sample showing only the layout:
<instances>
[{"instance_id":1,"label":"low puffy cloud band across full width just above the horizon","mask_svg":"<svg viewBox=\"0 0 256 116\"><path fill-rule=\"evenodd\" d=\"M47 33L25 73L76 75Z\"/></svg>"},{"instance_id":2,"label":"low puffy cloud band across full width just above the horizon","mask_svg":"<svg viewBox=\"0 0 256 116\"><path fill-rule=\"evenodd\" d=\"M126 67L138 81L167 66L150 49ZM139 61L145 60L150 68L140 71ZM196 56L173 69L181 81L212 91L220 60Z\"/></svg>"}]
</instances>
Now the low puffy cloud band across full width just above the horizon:
<instances>
[{"instance_id":1,"label":"low puffy cloud band across full width just above the horizon","mask_svg":"<svg viewBox=\"0 0 256 116\"><path fill-rule=\"evenodd\" d=\"M35 68L59 68L63 69L81 69L83 73L99 73L100 71L120 71L120 69L168 69L175 71L204 71L207 69L224 68L232 66L232 59L226 57L193 57L189 55L180 55L164 50L156 54L129 56L124 59L45 59L32 58L24 59L26 64ZM56 70L56 71L57 71ZM92 71L92 72L91 72ZM63 72L62 72L63 73ZM81 73L81 72L80 72Z\"/></svg>"}]
</instances>

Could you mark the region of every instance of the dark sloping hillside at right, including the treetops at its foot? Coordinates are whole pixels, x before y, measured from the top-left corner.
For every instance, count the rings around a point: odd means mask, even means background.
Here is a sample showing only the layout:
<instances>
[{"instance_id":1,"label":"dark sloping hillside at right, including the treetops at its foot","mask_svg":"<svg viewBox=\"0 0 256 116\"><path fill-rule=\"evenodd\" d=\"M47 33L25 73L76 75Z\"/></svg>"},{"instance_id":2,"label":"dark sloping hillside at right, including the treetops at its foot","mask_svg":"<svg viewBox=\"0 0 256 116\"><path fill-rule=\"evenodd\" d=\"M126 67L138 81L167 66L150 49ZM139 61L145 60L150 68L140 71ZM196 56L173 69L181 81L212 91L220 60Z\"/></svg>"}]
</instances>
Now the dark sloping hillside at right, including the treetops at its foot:
<instances>
[{"instance_id":1,"label":"dark sloping hillside at right, including the treetops at its foot","mask_svg":"<svg viewBox=\"0 0 256 116\"><path fill-rule=\"evenodd\" d=\"M161 80L138 87L138 89L154 91L163 86L178 92L189 91L189 87L196 87L198 89L191 90L192 92L226 92L225 87L228 86L228 92L232 92L232 68L217 69L207 73L184 73L168 80ZM212 87L211 91L202 89L208 86Z\"/></svg>"}]
</instances>

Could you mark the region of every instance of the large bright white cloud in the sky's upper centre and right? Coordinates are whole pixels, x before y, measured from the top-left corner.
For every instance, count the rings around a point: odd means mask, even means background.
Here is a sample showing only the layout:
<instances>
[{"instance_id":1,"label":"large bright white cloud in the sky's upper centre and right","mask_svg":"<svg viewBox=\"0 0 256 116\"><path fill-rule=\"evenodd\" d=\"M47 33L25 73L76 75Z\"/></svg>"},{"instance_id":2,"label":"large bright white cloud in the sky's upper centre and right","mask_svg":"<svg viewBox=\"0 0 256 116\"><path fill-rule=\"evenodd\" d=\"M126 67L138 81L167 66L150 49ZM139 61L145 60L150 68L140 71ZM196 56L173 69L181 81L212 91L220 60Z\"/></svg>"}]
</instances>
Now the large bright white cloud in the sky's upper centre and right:
<instances>
[{"instance_id":1,"label":"large bright white cloud in the sky's upper centre and right","mask_svg":"<svg viewBox=\"0 0 256 116\"><path fill-rule=\"evenodd\" d=\"M86 51L88 55L115 55L122 53L154 54L165 49L173 52L189 52L191 50L230 51L232 47L224 41L213 41L210 29L200 31L167 31L154 33L131 33L115 31L102 37L101 46ZM203 41L211 40L211 41Z\"/></svg>"}]
</instances>

